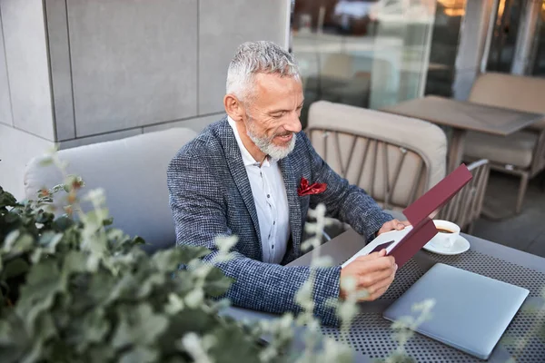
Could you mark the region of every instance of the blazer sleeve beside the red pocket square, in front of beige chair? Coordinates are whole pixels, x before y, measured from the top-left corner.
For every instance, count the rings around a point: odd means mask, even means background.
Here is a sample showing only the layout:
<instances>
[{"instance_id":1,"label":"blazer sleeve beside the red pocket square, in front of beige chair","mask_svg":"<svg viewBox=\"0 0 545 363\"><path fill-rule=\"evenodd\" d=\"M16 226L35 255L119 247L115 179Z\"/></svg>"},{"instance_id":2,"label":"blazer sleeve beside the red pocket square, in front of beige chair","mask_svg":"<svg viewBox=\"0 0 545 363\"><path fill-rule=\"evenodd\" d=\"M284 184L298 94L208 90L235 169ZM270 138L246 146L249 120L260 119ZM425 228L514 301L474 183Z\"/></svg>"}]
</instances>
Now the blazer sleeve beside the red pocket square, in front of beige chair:
<instances>
[{"instance_id":1,"label":"blazer sleeve beside the red pocket square, in front of beige chair","mask_svg":"<svg viewBox=\"0 0 545 363\"><path fill-rule=\"evenodd\" d=\"M382 211L366 191L334 172L314 150L306 134L300 133L312 163L312 182L327 184L324 192L311 196L311 208L325 204L329 216L350 224L354 231L372 240L382 224L393 219L391 215Z\"/></svg>"}]
</instances>

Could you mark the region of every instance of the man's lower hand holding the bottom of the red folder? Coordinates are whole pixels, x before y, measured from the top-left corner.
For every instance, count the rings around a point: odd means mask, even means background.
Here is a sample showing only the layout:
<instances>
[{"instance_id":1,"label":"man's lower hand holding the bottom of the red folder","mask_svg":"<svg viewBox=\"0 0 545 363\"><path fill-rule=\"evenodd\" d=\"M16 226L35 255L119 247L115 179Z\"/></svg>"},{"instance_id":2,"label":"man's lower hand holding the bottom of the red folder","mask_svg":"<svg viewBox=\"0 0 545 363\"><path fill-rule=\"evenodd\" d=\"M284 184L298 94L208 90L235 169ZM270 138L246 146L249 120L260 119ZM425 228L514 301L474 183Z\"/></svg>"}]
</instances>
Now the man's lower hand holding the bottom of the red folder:
<instances>
[{"instance_id":1,"label":"man's lower hand holding the bottom of the red folder","mask_svg":"<svg viewBox=\"0 0 545 363\"><path fill-rule=\"evenodd\" d=\"M369 255L358 257L341 270L341 282L352 278L356 291L365 290L367 296L360 301L372 301L382 296L390 287L397 265L391 256L386 256L386 250L373 252ZM350 291L342 288L341 298L345 299ZM355 292L355 291L354 291Z\"/></svg>"}]
</instances>

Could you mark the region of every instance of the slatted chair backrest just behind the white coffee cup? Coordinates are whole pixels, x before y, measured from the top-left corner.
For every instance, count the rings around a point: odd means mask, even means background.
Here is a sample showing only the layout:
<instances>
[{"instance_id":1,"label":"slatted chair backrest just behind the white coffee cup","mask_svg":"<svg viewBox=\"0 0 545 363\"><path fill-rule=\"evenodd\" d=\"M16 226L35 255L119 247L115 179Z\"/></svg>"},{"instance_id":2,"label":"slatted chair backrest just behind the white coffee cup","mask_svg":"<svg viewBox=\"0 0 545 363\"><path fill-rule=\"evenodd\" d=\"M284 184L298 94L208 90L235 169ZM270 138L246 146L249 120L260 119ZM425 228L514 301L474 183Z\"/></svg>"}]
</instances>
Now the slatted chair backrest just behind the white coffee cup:
<instances>
[{"instance_id":1,"label":"slatted chair backrest just behind the white coffee cup","mask_svg":"<svg viewBox=\"0 0 545 363\"><path fill-rule=\"evenodd\" d=\"M468 169L473 179L451 199L437 215L438 220L456 223L461 230L476 221L481 215L482 202L488 184L490 163L486 159L471 162Z\"/></svg>"}]
</instances>

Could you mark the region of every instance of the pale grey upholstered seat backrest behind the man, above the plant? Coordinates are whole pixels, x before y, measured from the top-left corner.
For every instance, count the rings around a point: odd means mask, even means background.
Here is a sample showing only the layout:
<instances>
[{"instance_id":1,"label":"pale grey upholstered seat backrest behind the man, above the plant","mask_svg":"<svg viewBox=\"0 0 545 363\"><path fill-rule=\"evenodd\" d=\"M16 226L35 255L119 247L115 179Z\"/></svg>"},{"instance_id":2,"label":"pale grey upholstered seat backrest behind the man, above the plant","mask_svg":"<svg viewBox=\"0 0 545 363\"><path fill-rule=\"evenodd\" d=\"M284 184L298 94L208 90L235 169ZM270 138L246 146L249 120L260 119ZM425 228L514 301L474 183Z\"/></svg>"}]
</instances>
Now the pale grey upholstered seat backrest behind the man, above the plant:
<instances>
[{"instance_id":1,"label":"pale grey upholstered seat backrest behind the man, above the plant","mask_svg":"<svg viewBox=\"0 0 545 363\"><path fill-rule=\"evenodd\" d=\"M175 153L195 135L190 129L173 128L62 150L58 157L67 162L67 173L84 179L80 197L92 189L104 189L114 227L132 237L144 238L151 244L144 250L153 252L175 245L166 168ZM43 158L37 157L26 166L27 199L35 199L36 191L42 188L64 182L58 168L41 165ZM66 203L62 198L56 204L62 207Z\"/></svg>"}]
</instances>

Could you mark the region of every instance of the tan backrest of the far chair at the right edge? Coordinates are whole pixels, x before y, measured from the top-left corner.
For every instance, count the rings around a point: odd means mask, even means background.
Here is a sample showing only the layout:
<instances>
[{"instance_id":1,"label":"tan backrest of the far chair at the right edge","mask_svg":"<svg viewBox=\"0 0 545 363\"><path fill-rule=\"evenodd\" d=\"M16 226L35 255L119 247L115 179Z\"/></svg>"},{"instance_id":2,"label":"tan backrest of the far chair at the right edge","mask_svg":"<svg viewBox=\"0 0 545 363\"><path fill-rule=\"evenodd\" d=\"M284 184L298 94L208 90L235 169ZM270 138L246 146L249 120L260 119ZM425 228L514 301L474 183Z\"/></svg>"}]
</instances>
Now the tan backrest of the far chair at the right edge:
<instances>
[{"instance_id":1,"label":"tan backrest of the far chair at the right edge","mask_svg":"<svg viewBox=\"0 0 545 363\"><path fill-rule=\"evenodd\" d=\"M515 74L480 74L471 87L468 101L510 108L529 113L544 113L545 79ZM545 130L545 117L532 128Z\"/></svg>"}]
</instances>

